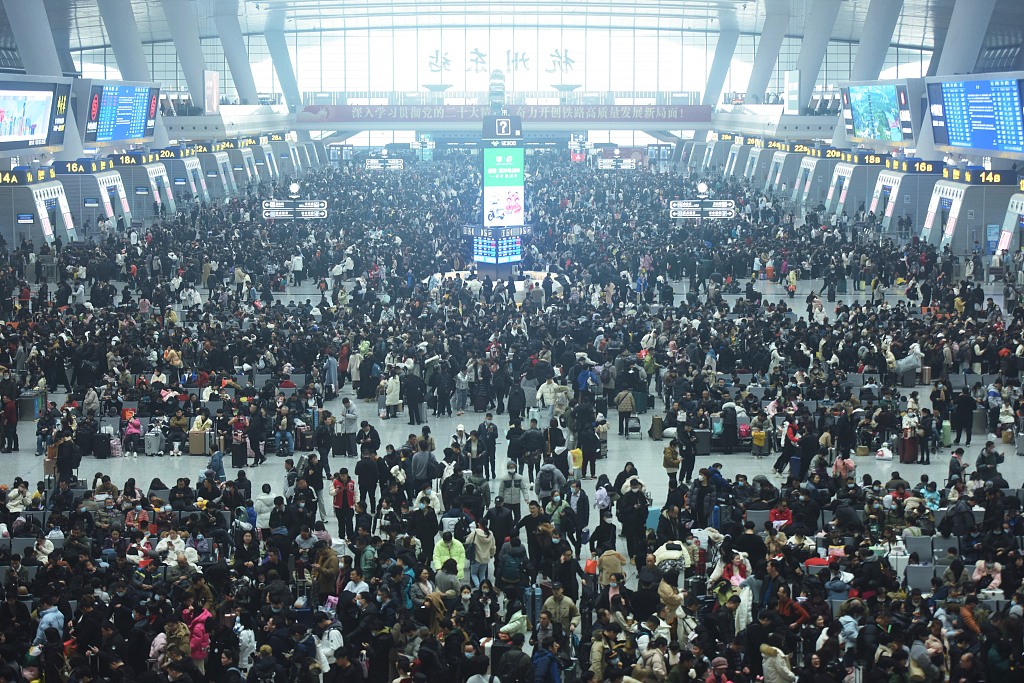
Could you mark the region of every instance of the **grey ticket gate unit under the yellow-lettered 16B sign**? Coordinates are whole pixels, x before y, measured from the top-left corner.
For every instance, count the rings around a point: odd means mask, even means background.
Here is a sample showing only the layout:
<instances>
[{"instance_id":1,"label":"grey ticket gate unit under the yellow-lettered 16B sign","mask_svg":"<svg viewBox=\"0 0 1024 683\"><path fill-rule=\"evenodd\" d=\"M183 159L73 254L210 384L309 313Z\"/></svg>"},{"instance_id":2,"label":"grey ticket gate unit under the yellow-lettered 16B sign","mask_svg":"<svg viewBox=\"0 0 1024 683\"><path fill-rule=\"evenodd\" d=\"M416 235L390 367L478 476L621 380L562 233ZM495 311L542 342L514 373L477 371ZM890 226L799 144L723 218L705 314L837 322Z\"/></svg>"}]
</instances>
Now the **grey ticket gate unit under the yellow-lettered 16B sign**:
<instances>
[{"instance_id":1,"label":"grey ticket gate unit under the yellow-lettered 16B sign","mask_svg":"<svg viewBox=\"0 0 1024 683\"><path fill-rule=\"evenodd\" d=\"M942 177L941 162L922 159L887 159L879 173L868 211L879 217L883 233L898 234L900 218L909 218L911 229L925 219L935 183Z\"/></svg>"}]
</instances>

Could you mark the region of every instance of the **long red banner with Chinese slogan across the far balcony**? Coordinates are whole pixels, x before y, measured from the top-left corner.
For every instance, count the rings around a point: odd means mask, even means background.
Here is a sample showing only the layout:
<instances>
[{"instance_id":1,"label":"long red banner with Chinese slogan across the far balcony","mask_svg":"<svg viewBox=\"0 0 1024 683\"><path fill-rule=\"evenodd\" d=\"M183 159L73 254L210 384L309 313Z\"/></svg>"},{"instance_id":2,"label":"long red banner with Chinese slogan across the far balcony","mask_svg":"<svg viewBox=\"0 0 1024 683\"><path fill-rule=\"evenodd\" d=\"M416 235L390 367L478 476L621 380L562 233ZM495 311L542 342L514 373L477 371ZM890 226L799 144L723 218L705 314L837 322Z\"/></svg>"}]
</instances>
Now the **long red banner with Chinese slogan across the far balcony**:
<instances>
[{"instance_id":1,"label":"long red banner with Chinese slogan across the far balcony","mask_svg":"<svg viewBox=\"0 0 1024 683\"><path fill-rule=\"evenodd\" d=\"M511 106L511 116L524 122L551 123L625 123L638 124L710 124L712 108L705 104L675 104L669 106L644 104L620 105L534 105ZM476 105L364 105L364 104L311 104L298 115L299 123L463 123L481 122L489 108Z\"/></svg>"}]
</instances>

